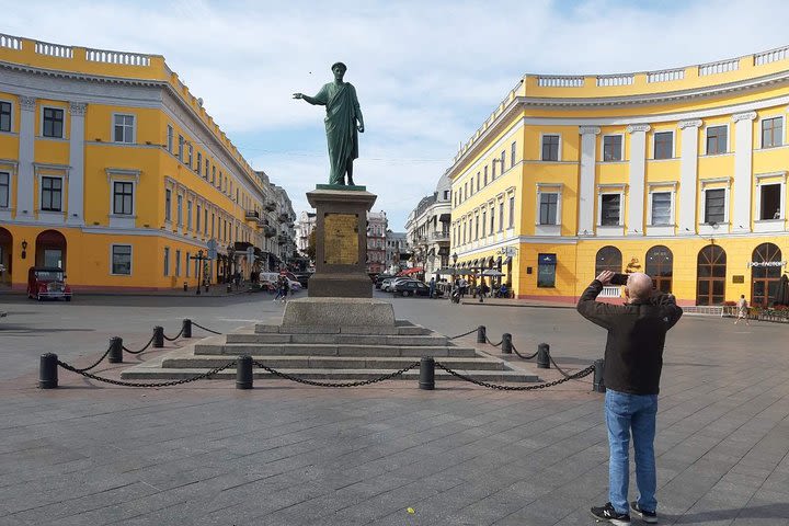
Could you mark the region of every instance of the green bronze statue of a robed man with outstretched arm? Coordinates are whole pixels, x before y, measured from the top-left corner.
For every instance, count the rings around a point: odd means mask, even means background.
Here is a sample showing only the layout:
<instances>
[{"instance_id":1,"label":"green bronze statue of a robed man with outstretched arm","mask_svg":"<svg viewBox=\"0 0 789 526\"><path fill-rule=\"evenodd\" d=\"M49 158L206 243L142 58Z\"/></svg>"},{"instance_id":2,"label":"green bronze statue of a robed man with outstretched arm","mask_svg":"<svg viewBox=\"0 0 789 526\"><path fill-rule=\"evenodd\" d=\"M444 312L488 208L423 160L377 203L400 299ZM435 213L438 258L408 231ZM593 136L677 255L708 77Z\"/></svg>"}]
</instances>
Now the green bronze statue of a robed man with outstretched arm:
<instances>
[{"instance_id":1,"label":"green bronze statue of a robed man with outstretched arm","mask_svg":"<svg viewBox=\"0 0 789 526\"><path fill-rule=\"evenodd\" d=\"M347 67L343 62L334 64L334 82L324 84L315 96L294 93L294 99L327 106L324 123L331 163L329 184L344 185L347 173L347 184L353 185L353 161L358 158L358 134L364 133L364 118L356 99L356 89L350 82L343 82L345 71Z\"/></svg>"}]
</instances>

